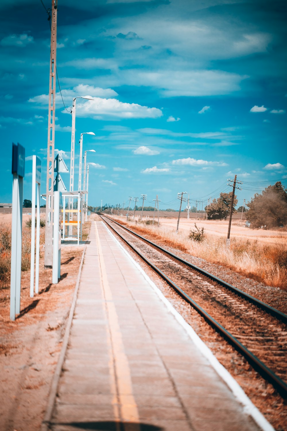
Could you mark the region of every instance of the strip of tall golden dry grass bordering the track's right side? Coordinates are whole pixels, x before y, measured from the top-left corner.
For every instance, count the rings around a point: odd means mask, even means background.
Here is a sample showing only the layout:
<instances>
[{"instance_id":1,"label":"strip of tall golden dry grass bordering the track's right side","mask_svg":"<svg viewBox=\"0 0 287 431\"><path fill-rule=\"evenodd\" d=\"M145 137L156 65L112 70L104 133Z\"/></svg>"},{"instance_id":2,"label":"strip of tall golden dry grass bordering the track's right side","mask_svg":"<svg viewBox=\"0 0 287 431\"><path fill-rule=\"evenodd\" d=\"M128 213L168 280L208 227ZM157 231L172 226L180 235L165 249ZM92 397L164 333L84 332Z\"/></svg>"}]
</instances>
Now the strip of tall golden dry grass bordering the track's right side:
<instances>
[{"instance_id":1,"label":"strip of tall golden dry grass bordering the track's right side","mask_svg":"<svg viewBox=\"0 0 287 431\"><path fill-rule=\"evenodd\" d=\"M124 224L122 220L120 223ZM167 247L174 247L208 262L226 266L241 275L262 281L269 286L287 290L287 242L280 245L260 243L256 239L235 237L231 247L225 238L206 234L202 242L189 238L188 232L170 230L163 226L146 225L145 222L127 223L143 236L150 235Z\"/></svg>"}]
</instances>

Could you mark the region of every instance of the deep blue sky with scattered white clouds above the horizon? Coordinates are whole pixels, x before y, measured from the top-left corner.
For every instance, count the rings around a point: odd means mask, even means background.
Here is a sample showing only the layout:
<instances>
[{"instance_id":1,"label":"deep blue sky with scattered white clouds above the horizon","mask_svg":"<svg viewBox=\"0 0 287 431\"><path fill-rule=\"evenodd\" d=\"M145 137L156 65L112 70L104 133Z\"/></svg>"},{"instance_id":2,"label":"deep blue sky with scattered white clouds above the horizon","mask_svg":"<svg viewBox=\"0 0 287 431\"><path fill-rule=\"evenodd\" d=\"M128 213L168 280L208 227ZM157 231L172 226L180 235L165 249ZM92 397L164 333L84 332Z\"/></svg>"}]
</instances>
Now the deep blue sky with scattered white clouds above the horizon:
<instances>
[{"instance_id":1,"label":"deep blue sky with scattered white clouds above the horizon","mask_svg":"<svg viewBox=\"0 0 287 431\"><path fill-rule=\"evenodd\" d=\"M43 0L46 8L50 1ZM0 3L0 201L12 202L12 142L46 147L50 31L40 0ZM77 99L76 142L90 166L89 203L156 194L177 208L231 191L238 205L277 180L287 185L285 1L59 0L57 70L67 108ZM70 167L71 114L57 85L55 148ZM79 146L75 179L78 182ZM69 175L62 175L66 187Z\"/></svg>"}]
</instances>

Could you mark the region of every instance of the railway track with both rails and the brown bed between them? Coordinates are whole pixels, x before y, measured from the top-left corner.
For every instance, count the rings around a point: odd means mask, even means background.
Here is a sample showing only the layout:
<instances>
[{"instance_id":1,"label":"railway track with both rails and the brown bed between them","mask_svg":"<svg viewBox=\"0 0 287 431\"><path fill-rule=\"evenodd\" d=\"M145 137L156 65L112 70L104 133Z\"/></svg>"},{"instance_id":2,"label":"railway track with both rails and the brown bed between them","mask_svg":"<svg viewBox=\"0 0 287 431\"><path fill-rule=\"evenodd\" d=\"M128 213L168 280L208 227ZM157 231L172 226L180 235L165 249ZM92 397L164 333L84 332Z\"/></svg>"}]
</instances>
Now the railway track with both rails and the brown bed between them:
<instances>
[{"instance_id":1,"label":"railway track with both rails and the brown bed between them","mask_svg":"<svg viewBox=\"0 0 287 431\"><path fill-rule=\"evenodd\" d=\"M114 220L102 219L287 398L287 315Z\"/></svg>"}]
</instances>

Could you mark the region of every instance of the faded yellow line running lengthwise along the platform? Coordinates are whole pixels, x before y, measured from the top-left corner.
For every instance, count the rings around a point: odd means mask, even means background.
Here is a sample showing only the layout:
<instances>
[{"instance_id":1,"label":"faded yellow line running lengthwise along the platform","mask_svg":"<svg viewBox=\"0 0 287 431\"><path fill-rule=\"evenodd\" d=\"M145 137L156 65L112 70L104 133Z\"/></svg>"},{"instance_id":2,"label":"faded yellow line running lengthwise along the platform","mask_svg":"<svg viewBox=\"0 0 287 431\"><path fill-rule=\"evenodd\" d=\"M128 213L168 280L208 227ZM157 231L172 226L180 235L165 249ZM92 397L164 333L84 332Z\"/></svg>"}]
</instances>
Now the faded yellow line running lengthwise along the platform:
<instances>
[{"instance_id":1,"label":"faded yellow line running lengthwise along the platform","mask_svg":"<svg viewBox=\"0 0 287 431\"><path fill-rule=\"evenodd\" d=\"M99 238L99 231L95 222L96 229L96 239L97 246L99 251L99 267L101 272L101 287L103 297L105 298L105 307L109 322L109 330L110 333L108 335L108 344L111 344L112 348L112 361L110 364L110 372L114 374L115 368L115 379L116 386L118 391L118 398L120 402L120 416L121 420L125 423L125 430L129 430L129 423L132 422L133 431L139 431L140 425L137 427L137 423L139 423L139 411L136 405L136 401L133 397L133 386L132 379L130 375L130 366L127 359L127 355L124 350L122 334L120 331L119 320L117 316L116 306L113 300L113 296L111 293L111 289L108 283L108 275L105 268L104 256L102 254L102 247ZM114 402L114 412L116 418L118 418L117 401Z\"/></svg>"}]
</instances>

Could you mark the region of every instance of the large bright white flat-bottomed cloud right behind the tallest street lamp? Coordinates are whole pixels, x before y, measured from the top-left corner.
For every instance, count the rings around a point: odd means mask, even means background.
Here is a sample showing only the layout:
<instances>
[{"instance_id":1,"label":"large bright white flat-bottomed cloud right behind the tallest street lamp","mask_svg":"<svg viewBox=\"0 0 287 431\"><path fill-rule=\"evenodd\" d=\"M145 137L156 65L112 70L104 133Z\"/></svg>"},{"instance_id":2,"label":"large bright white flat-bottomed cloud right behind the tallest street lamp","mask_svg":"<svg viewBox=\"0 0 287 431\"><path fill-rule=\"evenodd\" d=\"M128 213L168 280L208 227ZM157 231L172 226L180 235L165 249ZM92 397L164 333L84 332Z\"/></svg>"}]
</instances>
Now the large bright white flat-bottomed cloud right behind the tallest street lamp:
<instances>
[{"instance_id":1,"label":"large bright white flat-bottomed cloud right behind the tallest street lamp","mask_svg":"<svg viewBox=\"0 0 287 431\"><path fill-rule=\"evenodd\" d=\"M137 103L123 103L117 99L93 97L93 100L77 103L77 116L80 117L158 118L162 115L160 109L148 108Z\"/></svg>"}]
</instances>

